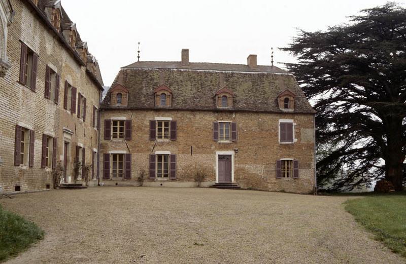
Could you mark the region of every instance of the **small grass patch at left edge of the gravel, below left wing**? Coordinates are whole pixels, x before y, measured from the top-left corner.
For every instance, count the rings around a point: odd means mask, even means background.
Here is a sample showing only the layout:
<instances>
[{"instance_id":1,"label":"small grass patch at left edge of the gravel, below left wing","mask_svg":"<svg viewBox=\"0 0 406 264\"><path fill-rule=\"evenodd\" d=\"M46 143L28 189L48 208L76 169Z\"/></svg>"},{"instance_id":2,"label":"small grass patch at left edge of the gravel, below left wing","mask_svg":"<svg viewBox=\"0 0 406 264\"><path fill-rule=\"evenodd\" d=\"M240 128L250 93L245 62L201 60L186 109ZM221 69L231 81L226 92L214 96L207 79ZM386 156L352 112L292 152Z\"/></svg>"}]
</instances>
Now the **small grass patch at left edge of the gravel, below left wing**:
<instances>
[{"instance_id":1,"label":"small grass patch at left edge of the gravel, below left wing","mask_svg":"<svg viewBox=\"0 0 406 264\"><path fill-rule=\"evenodd\" d=\"M0 205L0 262L24 251L43 237L44 232L35 223L4 210Z\"/></svg>"}]
</instances>

